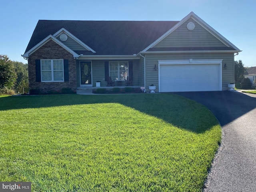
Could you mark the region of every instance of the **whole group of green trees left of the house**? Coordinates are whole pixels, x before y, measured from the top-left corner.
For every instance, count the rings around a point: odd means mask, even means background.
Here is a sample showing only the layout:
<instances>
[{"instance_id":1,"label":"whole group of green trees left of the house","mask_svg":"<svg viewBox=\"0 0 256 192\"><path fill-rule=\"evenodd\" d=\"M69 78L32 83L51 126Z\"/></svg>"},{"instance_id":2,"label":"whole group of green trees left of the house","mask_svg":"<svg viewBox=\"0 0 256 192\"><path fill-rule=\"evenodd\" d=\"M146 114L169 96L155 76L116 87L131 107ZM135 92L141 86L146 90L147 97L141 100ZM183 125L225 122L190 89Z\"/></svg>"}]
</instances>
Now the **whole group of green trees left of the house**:
<instances>
[{"instance_id":1,"label":"whole group of green trees left of the house","mask_svg":"<svg viewBox=\"0 0 256 192\"><path fill-rule=\"evenodd\" d=\"M0 54L0 94L28 93L28 64Z\"/></svg>"}]
</instances>

